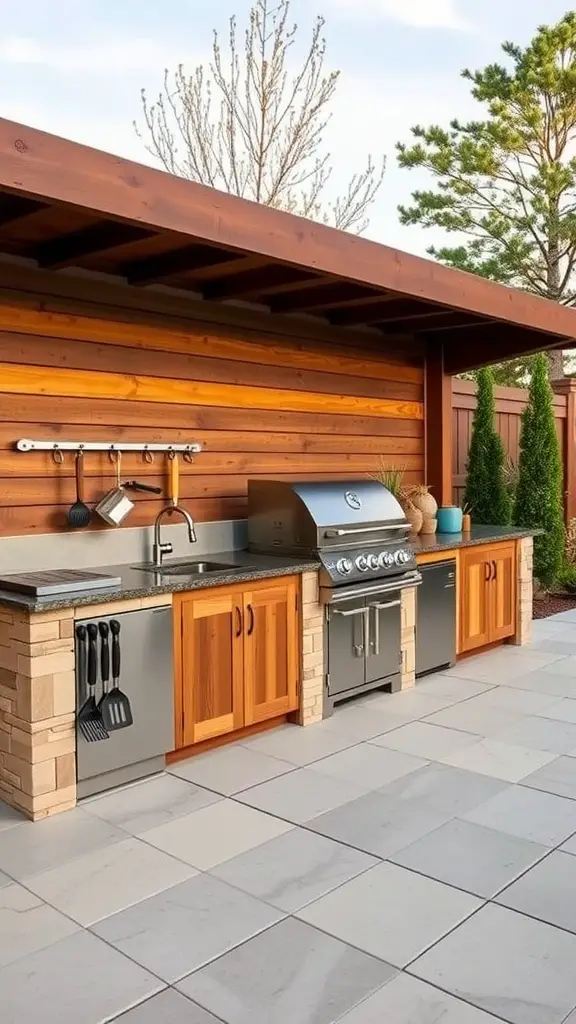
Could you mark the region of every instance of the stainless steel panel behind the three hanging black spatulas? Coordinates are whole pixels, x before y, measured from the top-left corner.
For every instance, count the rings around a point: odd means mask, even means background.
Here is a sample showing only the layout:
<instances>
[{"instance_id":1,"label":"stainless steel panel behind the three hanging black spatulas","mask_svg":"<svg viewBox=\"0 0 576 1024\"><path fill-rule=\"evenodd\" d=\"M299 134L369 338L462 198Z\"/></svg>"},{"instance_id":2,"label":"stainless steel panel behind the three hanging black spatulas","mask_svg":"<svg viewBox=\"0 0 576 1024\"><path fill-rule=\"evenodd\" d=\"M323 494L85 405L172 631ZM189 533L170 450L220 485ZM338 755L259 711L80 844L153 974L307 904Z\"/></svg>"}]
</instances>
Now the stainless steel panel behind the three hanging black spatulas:
<instances>
[{"instance_id":1,"label":"stainless steel panel behind the three hanging black spatulas","mask_svg":"<svg viewBox=\"0 0 576 1024\"><path fill-rule=\"evenodd\" d=\"M130 699L134 724L95 743L86 742L77 728L79 780L135 765L174 748L172 609L147 608L110 617L120 623L120 688ZM110 623L110 617L107 615L106 622ZM98 622L100 618L86 618L82 625ZM96 700L101 696L99 655L98 641ZM85 697L84 681L77 678L76 686L80 707Z\"/></svg>"}]
</instances>

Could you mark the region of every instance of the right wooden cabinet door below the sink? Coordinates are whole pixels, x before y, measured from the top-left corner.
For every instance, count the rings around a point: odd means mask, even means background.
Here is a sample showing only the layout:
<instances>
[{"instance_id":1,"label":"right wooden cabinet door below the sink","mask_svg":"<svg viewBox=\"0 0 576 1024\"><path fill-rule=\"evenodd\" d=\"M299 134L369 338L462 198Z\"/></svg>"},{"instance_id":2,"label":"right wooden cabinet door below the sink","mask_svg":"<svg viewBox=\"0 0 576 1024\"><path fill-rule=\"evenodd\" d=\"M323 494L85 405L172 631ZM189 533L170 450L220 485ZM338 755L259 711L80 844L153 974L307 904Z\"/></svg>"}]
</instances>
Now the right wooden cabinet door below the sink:
<instances>
[{"instance_id":1,"label":"right wooden cabinet door below the sink","mask_svg":"<svg viewBox=\"0 0 576 1024\"><path fill-rule=\"evenodd\" d=\"M298 707L297 580L244 592L244 724Z\"/></svg>"}]
</instances>

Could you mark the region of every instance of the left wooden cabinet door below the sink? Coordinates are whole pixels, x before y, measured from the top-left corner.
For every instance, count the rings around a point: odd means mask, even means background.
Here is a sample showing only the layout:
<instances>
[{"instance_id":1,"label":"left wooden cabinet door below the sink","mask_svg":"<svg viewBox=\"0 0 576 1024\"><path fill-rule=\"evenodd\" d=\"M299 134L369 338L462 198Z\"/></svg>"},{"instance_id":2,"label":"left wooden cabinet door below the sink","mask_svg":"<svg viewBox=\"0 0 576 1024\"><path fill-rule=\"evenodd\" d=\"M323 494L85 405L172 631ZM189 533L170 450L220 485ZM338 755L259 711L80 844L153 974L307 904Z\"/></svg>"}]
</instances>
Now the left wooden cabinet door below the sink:
<instances>
[{"instance_id":1,"label":"left wooden cabinet door below the sink","mask_svg":"<svg viewBox=\"0 0 576 1024\"><path fill-rule=\"evenodd\" d=\"M244 725L242 593L181 599L182 746Z\"/></svg>"}]
</instances>

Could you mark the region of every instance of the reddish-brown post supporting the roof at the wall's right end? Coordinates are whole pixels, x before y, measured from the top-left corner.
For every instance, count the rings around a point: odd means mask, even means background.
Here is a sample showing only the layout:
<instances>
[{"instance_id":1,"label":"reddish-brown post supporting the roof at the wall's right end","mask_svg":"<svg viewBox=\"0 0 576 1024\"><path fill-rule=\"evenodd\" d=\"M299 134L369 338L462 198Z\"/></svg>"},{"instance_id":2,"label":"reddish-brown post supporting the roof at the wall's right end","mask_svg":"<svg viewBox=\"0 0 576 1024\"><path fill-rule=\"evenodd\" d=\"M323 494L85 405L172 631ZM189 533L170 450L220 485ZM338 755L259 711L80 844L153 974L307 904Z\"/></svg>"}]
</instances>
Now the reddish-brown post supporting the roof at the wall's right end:
<instances>
[{"instance_id":1,"label":"reddish-brown post supporting the roof at the wall's right end","mask_svg":"<svg viewBox=\"0 0 576 1024\"><path fill-rule=\"evenodd\" d=\"M425 482L439 505L452 505L452 378L443 346L428 343L425 369Z\"/></svg>"}]
</instances>

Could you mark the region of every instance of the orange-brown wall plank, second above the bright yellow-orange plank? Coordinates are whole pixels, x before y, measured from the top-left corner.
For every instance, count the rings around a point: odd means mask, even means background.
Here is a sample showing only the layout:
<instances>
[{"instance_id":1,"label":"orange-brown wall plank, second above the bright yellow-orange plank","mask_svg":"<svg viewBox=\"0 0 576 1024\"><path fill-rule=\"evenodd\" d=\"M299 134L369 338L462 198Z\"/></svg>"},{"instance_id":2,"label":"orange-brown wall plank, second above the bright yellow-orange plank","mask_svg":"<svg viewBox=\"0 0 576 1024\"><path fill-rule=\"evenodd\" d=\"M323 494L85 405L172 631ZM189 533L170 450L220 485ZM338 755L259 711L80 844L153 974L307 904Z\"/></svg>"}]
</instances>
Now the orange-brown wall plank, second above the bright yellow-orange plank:
<instances>
[{"instance_id":1,"label":"orange-brown wall plank, second above the bright yellow-orange plank","mask_svg":"<svg viewBox=\"0 0 576 1024\"><path fill-rule=\"evenodd\" d=\"M200 324L176 329L172 325L126 324L119 321L28 309L24 306L0 305L0 329L20 335L41 335L69 341L97 342L136 348L140 351L160 350L184 355L209 356L223 360L239 360L257 366L285 367L367 377L382 381L404 381L420 385L423 368L386 361L386 342L382 339L381 353L349 355L338 346L326 343L301 343L295 338L284 343L277 337L265 338L254 332L247 339L217 333L213 325Z\"/></svg>"}]
</instances>

